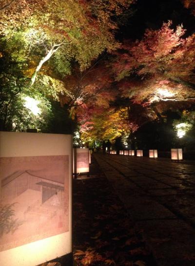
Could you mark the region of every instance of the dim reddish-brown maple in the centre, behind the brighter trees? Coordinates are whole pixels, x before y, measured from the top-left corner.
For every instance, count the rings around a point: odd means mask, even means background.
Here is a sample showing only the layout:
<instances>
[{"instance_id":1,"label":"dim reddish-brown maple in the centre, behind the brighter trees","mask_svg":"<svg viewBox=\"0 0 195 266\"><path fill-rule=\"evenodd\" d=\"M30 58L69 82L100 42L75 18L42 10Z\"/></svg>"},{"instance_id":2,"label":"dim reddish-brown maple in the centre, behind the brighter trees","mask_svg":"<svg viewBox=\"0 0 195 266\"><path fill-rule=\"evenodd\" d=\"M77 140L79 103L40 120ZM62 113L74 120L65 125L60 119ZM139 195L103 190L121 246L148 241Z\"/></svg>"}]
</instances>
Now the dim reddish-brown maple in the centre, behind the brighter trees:
<instances>
[{"instance_id":1,"label":"dim reddish-brown maple in the centre, behind the brighter trees","mask_svg":"<svg viewBox=\"0 0 195 266\"><path fill-rule=\"evenodd\" d=\"M63 80L64 93L61 93L60 96L61 103L67 105L71 113L75 108L79 111L78 106L86 109L86 104L96 105L100 99L104 99L106 94L109 95L109 89L113 82L111 74L110 69L101 60L100 63L96 61L90 68L82 72L76 66L72 74ZM101 104L103 104L102 100Z\"/></svg>"}]
</instances>

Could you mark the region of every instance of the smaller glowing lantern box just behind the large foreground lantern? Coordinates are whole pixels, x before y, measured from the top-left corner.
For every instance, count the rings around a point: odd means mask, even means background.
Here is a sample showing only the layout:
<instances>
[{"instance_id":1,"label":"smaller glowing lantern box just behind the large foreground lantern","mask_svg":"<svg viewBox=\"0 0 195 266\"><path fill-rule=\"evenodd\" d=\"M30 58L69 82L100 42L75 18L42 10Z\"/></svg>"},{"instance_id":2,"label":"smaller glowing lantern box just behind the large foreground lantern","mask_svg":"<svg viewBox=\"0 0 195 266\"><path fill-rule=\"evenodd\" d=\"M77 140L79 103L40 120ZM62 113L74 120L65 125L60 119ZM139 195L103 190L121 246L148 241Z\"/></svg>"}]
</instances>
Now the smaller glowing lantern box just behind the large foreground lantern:
<instances>
[{"instance_id":1,"label":"smaller glowing lantern box just behind the large foreground lantern","mask_svg":"<svg viewBox=\"0 0 195 266\"><path fill-rule=\"evenodd\" d=\"M89 149L88 148L74 148L73 149L73 173L89 175Z\"/></svg>"}]
</instances>

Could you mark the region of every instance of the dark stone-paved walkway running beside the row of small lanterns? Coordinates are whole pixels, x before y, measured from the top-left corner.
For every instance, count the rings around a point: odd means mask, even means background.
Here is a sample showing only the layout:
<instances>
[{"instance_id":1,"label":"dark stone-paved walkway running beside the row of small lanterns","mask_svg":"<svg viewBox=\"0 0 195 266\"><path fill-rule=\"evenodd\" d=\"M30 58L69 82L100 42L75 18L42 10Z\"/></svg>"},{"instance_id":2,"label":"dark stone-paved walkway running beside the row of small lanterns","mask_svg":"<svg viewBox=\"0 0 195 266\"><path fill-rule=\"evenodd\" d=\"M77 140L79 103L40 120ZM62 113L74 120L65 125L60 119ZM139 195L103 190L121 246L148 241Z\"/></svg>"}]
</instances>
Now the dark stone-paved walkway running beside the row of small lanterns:
<instances>
[{"instance_id":1,"label":"dark stone-paved walkway running beside the row of small lanterns","mask_svg":"<svg viewBox=\"0 0 195 266\"><path fill-rule=\"evenodd\" d=\"M94 154L158 266L195 266L195 165Z\"/></svg>"}]
</instances>

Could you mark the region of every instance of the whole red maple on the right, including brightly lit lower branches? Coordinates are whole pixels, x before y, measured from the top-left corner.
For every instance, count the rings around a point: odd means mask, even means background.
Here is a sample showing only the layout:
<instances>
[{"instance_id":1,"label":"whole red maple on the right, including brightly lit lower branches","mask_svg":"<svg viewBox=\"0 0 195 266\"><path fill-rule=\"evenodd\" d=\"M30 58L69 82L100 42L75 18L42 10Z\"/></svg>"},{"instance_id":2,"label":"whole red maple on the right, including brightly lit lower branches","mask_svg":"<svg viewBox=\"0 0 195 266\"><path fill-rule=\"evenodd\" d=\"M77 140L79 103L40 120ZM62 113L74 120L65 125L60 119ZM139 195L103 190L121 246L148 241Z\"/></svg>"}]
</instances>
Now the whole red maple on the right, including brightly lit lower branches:
<instances>
[{"instance_id":1,"label":"whole red maple on the right, including brightly lit lower branches","mask_svg":"<svg viewBox=\"0 0 195 266\"><path fill-rule=\"evenodd\" d=\"M195 35L182 38L184 33L182 26L172 29L169 21L159 30L146 30L141 41L126 41L115 53L119 90L132 106L145 108L149 121L160 118L159 102L169 108L172 102L195 101Z\"/></svg>"}]
</instances>

